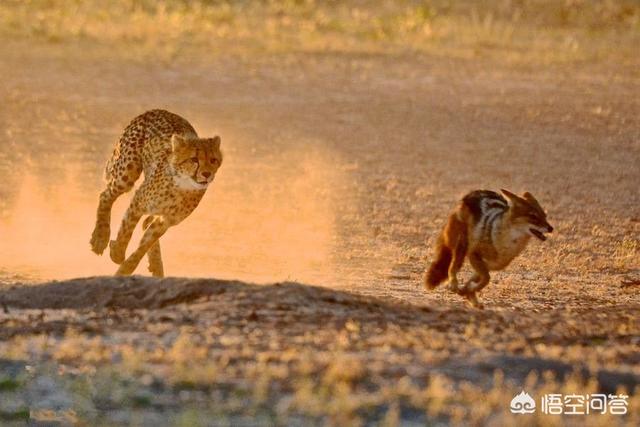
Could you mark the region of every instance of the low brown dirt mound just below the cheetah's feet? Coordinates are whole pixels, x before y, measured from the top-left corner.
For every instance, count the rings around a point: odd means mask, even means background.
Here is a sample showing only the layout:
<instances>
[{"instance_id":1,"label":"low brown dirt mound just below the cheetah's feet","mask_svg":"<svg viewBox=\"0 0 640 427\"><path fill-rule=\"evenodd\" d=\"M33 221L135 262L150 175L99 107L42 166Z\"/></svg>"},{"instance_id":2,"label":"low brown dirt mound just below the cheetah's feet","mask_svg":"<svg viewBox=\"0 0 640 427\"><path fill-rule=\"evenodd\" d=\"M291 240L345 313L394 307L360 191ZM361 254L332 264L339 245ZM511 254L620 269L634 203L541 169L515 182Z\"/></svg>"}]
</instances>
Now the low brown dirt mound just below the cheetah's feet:
<instances>
[{"instance_id":1,"label":"low brown dirt mound just below the cheetah's feet","mask_svg":"<svg viewBox=\"0 0 640 427\"><path fill-rule=\"evenodd\" d=\"M225 294L224 299L251 300L256 306L277 303L304 306L329 303L366 310L418 310L426 307L399 306L373 297L285 282L254 285L217 279L151 277L89 277L41 285L16 285L0 293L0 303L17 309L158 309L191 303Z\"/></svg>"}]
</instances>

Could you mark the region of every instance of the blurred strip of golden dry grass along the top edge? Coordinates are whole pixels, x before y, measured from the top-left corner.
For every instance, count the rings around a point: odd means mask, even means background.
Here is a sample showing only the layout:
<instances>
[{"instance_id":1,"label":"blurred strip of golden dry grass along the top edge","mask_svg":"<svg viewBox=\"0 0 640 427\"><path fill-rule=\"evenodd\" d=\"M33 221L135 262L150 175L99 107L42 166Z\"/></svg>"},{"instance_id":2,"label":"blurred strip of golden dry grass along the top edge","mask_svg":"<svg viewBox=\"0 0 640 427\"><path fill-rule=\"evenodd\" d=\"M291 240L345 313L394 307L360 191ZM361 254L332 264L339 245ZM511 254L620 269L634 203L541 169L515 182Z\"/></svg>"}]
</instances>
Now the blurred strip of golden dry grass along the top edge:
<instances>
[{"instance_id":1,"label":"blurred strip of golden dry grass along the top edge","mask_svg":"<svg viewBox=\"0 0 640 427\"><path fill-rule=\"evenodd\" d=\"M209 55L400 49L514 62L628 61L640 42L640 5L632 0L9 0L0 5L0 34L121 44L169 57L194 49Z\"/></svg>"}]
</instances>

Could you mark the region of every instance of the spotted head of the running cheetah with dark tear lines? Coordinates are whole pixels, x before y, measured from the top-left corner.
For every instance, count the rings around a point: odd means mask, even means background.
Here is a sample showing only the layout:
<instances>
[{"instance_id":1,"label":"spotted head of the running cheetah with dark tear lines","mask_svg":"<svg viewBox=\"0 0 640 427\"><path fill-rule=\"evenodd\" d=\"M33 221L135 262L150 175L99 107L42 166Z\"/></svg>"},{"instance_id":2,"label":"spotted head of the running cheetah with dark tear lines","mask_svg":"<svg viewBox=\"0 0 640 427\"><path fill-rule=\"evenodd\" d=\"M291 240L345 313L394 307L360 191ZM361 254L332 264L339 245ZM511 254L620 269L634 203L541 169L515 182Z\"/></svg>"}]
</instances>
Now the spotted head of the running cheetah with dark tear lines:
<instances>
[{"instance_id":1,"label":"spotted head of the running cheetah with dark tear lines","mask_svg":"<svg viewBox=\"0 0 640 427\"><path fill-rule=\"evenodd\" d=\"M180 186L204 190L222 164L220 137L187 138L174 134L171 136L169 162Z\"/></svg>"}]
</instances>

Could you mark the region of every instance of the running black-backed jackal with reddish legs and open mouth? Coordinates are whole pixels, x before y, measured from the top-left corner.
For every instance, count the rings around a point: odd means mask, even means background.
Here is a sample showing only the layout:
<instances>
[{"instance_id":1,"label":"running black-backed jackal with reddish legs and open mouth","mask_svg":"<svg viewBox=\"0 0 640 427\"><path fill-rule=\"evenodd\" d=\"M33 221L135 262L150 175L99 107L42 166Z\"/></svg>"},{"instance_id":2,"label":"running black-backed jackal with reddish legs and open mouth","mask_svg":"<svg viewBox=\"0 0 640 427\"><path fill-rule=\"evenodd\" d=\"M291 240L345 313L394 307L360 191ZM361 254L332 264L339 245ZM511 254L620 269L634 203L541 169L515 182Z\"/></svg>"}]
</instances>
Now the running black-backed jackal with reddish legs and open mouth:
<instances>
[{"instance_id":1,"label":"running black-backed jackal with reddish legs and open mouth","mask_svg":"<svg viewBox=\"0 0 640 427\"><path fill-rule=\"evenodd\" d=\"M547 215L531 195L477 190L462 198L438 237L436 259L425 274L433 289L449 279L449 288L482 308L476 294L489 283L489 271L502 270L526 247L531 236L546 240L553 231ZM457 274L465 257L475 274L464 285Z\"/></svg>"}]
</instances>

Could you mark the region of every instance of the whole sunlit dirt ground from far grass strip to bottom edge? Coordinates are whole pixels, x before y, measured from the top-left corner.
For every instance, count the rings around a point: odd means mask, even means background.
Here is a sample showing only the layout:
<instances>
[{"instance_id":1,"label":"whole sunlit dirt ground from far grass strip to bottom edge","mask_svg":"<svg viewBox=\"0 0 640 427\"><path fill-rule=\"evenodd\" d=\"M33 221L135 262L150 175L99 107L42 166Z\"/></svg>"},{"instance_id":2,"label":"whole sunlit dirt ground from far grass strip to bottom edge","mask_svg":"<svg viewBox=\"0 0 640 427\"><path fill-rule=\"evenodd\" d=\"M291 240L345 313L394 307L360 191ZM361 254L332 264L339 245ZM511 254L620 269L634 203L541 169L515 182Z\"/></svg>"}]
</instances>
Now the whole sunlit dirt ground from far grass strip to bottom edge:
<instances>
[{"instance_id":1,"label":"whole sunlit dirt ground from far grass strip to bottom edge","mask_svg":"<svg viewBox=\"0 0 640 427\"><path fill-rule=\"evenodd\" d=\"M0 53L2 423L640 423L639 64ZM222 136L162 243L207 279L106 277L89 250L104 162L151 108ZM556 230L484 311L421 286L477 188L532 192ZM630 413L523 421L521 389L626 390Z\"/></svg>"}]
</instances>

